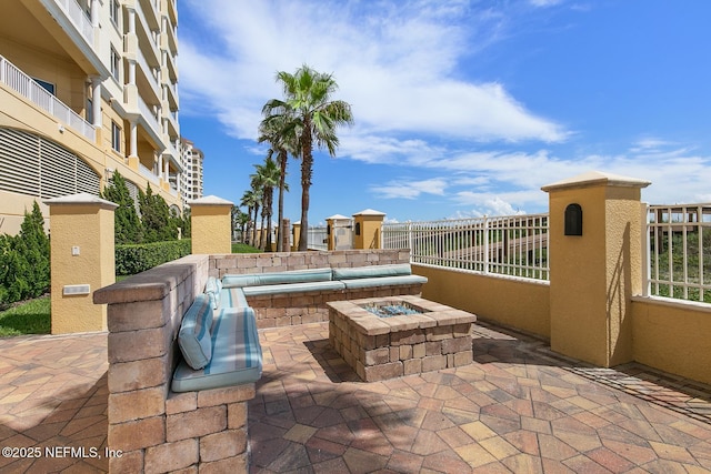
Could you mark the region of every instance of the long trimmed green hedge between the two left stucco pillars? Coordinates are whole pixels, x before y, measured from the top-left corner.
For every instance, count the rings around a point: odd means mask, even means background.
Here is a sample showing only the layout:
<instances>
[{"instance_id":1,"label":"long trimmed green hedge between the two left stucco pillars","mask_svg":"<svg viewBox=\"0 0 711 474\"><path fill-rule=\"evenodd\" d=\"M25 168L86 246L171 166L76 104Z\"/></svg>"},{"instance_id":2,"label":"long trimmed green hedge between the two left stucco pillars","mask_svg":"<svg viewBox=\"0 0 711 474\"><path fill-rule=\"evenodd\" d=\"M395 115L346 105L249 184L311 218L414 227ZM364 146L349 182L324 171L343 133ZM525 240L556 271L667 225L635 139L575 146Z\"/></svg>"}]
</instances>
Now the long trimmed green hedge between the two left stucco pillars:
<instances>
[{"instance_id":1,"label":"long trimmed green hedge between the two left stucco pillars","mask_svg":"<svg viewBox=\"0 0 711 474\"><path fill-rule=\"evenodd\" d=\"M116 246L116 274L134 275L190 255L190 239Z\"/></svg>"}]
</instances>

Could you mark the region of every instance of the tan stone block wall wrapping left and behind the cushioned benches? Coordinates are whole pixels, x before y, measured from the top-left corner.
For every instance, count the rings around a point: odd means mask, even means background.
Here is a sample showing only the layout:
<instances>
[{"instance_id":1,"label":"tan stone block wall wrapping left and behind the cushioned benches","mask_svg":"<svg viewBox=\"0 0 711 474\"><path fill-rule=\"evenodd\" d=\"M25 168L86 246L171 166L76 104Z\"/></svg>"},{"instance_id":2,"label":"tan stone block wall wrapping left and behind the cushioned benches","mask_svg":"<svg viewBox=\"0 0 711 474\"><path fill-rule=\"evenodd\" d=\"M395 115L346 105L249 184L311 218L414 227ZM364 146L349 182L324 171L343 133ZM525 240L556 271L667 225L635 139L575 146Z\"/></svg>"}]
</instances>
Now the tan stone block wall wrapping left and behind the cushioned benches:
<instances>
[{"instance_id":1,"label":"tan stone block wall wrapping left and behind the cushioned benches","mask_svg":"<svg viewBox=\"0 0 711 474\"><path fill-rule=\"evenodd\" d=\"M122 452L121 457L109 461L110 472L249 470L247 412L249 400L256 396L254 384L170 391L180 357L180 323L204 291L208 275L404 263L408 259L407 250L189 255L96 291L93 302L108 304L107 444ZM289 314L288 320L286 313L271 317L266 305L258 313L274 325L307 322L309 314L321 314L322 299L299 297L282 302L284 307L302 305L299 315Z\"/></svg>"}]
</instances>

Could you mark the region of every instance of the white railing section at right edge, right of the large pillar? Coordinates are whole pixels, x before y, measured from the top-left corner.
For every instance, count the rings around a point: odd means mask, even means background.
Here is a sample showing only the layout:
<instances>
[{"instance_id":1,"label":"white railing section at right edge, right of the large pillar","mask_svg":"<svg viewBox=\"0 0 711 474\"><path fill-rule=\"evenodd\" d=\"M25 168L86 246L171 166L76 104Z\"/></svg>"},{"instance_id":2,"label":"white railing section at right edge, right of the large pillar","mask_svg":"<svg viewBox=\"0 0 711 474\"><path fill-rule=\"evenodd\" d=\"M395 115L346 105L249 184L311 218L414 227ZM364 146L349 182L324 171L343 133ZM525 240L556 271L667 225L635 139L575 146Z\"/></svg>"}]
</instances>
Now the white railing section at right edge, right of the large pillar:
<instances>
[{"instance_id":1,"label":"white railing section at right edge, right of the large pillar","mask_svg":"<svg viewBox=\"0 0 711 474\"><path fill-rule=\"evenodd\" d=\"M711 303L711 204L649 205L647 226L645 294Z\"/></svg>"}]
</instances>

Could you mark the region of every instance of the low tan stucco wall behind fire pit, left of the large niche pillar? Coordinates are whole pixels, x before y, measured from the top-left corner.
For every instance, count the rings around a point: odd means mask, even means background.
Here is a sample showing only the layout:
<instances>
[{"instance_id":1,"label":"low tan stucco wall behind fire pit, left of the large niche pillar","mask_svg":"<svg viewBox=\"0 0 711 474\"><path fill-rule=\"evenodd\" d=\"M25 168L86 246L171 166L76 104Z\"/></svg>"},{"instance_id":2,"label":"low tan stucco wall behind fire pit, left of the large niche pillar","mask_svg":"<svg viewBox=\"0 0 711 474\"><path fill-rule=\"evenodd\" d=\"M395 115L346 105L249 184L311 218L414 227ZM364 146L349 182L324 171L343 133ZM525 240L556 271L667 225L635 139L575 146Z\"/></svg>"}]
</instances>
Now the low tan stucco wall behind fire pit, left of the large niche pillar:
<instances>
[{"instance_id":1,"label":"low tan stucco wall behind fire pit, left of the large niche pillar","mask_svg":"<svg viewBox=\"0 0 711 474\"><path fill-rule=\"evenodd\" d=\"M548 282L488 276L412 264L412 273L427 276L422 297L469 311L492 321L550 337Z\"/></svg>"}]
</instances>

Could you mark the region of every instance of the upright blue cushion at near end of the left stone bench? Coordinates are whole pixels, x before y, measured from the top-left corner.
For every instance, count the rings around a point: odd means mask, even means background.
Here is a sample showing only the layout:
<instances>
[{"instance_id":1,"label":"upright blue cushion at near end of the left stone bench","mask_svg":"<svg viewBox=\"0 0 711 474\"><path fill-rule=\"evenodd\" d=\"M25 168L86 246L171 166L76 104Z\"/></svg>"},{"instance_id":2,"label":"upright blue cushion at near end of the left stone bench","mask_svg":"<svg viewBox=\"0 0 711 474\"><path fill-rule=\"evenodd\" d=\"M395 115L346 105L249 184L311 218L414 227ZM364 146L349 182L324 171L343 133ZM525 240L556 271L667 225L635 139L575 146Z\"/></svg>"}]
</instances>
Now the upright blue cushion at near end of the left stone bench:
<instances>
[{"instance_id":1,"label":"upright blue cushion at near end of the left stone bench","mask_svg":"<svg viewBox=\"0 0 711 474\"><path fill-rule=\"evenodd\" d=\"M212 303L207 294L199 294L182 317L178 345L192 369L202 369L212 359Z\"/></svg>"}]
</instances>

